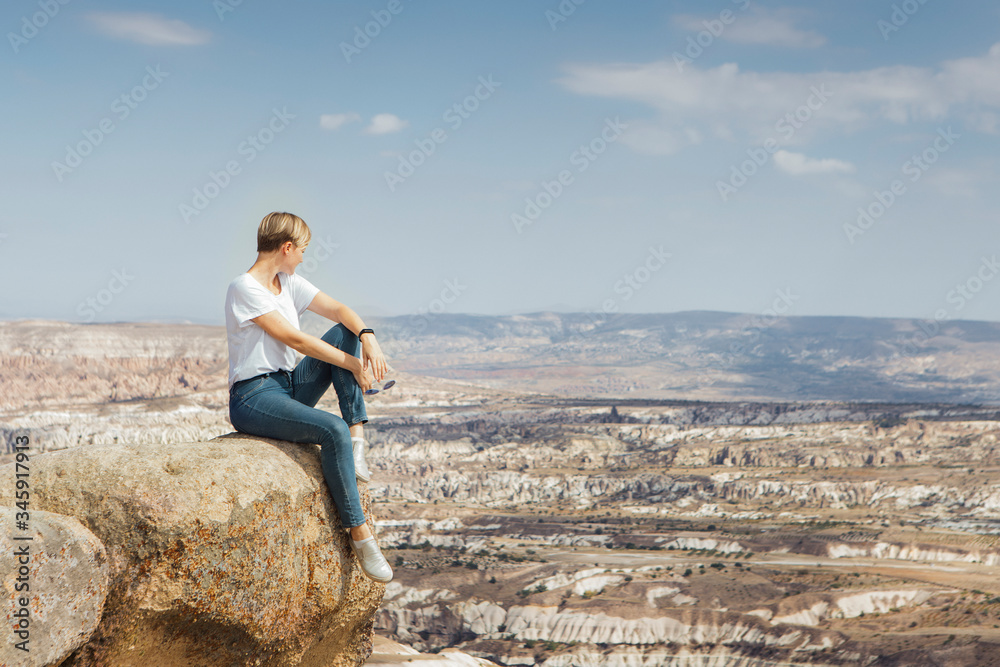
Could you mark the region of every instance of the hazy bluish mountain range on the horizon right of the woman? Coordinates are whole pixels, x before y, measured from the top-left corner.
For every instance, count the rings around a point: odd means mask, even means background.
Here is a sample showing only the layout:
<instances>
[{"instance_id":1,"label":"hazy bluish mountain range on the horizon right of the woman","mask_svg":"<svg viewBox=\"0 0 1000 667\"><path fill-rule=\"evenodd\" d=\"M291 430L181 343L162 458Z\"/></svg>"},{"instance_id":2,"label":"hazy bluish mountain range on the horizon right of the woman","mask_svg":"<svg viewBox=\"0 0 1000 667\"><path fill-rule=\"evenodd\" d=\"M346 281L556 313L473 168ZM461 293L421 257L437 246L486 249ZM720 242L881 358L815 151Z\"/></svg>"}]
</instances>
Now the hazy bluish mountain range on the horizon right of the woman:
<instances>
[{"instance_id":1,"label":"hazy bluish mountain range on the horizon right of the woman","mask_svg":"<svg viewBox=\"0 0 1000 667\"><path fill-rule=\"evenodd\" d=\"M497 388L649 399L1000 404L997 322L710 311L369 321L401 370ZM304 326L319 330L322 321Z\"/></svg>"}]
</instances>

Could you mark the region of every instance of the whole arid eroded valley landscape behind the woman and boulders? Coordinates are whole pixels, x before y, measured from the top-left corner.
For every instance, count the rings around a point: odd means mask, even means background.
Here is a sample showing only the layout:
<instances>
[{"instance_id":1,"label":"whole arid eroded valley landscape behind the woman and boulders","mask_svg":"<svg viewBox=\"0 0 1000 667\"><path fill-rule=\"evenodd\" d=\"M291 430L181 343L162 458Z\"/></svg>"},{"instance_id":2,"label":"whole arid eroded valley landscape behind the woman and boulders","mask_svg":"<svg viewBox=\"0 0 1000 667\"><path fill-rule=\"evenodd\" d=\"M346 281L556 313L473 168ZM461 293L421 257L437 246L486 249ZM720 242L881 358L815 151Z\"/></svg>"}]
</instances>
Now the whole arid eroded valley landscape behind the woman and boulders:
<instances>
[{"instance_id":1,"label":"whole arid eroded valley landscape behind the woman and boulders","mask_svg":"<svg viewBox=\"0 0 1000 667\"><path fill-rule=\"evenodd\" d=\"M919 323L789 318L713 362L747 333L710 315L376 325L376 633L506 665L1000 665L1000 328L893 356ZM232 430L222 327L0 323L0 387L8 446Z\"/></svg>"}]
</instances>

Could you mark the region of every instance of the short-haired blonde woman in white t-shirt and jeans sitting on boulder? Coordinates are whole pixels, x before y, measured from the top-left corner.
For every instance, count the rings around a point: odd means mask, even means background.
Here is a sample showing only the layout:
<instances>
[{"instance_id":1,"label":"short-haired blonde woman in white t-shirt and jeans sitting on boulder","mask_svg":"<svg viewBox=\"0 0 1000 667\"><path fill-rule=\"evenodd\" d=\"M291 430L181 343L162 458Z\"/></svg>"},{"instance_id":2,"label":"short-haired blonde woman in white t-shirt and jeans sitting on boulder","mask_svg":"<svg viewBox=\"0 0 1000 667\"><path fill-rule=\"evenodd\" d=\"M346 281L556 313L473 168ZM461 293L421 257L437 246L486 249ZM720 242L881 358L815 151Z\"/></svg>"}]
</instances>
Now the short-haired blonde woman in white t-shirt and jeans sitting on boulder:
<instances>
[{"instance_id":1,"label":"short-haired blonde woman in white t-shirt and jeans sitting on boulder","mask_svg":"<svg viewBox=\"0 0 1000 667\"><path fill-rule=\"evenodd\" d=\"M267 215L257 229L257 261L229 285L229 418L244 433L320 444L323 477L351 548L362 571L386 583L392 568L366 522L355 479L369 479L364 392L373 377L382 380L386 361L357 313L295 275L311 236L296 215ZM322 338L303 333L306 310L339 324ZM298 365L293 350L306 355ZM314 407L330 385L341 417Z\"/></svg>"}]
</instances>

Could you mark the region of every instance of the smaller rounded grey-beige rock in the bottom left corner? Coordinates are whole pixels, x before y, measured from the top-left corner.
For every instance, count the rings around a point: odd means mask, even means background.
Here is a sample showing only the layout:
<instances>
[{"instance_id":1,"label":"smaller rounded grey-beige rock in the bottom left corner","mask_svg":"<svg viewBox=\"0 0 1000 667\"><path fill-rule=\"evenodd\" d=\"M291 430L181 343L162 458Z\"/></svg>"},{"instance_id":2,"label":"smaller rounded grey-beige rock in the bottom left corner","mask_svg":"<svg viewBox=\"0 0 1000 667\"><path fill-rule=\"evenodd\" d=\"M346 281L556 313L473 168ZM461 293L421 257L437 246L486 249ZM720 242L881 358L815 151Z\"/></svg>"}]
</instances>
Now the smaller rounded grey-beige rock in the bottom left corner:
<instances>
[{"instance_id":1,"label":"smaller rounded grey-beige rock in the bottom left corner","mask_svg":"<svg viewBox=\"0 0 1000 667\"><path fill-rule=\"evenodd\" d=\"M73 517L29 509L25 526L17 528L21 510L0 507L8 635L0 644L0 665L58 665L90 639L108 594L101 541ZM15 626L25 634L14 634Z\"/></svg>"}]
</instances>

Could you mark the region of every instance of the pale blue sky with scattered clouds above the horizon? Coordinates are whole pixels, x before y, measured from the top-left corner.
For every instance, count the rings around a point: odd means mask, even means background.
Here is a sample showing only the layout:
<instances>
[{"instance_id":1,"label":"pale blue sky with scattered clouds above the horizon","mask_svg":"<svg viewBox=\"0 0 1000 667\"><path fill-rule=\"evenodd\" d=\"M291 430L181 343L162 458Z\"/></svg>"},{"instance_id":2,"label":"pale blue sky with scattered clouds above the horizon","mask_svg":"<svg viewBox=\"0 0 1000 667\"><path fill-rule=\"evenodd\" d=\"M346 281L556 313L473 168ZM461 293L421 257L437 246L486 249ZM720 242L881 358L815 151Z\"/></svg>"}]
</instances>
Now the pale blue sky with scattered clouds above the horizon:
<instances>
[{"instance_id":1,"label":"pale blue sky with scattered clouds above the horizon","mask_svg":"<svg viewBox=\"0 0 1000 667\"><path fill-rule=\"evenodd\" d=\"M1000 319L994 3L12 0L0 26L6 319L222 323L273 210L363 316Z\"/></svg>"}]
</instances>

